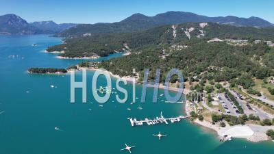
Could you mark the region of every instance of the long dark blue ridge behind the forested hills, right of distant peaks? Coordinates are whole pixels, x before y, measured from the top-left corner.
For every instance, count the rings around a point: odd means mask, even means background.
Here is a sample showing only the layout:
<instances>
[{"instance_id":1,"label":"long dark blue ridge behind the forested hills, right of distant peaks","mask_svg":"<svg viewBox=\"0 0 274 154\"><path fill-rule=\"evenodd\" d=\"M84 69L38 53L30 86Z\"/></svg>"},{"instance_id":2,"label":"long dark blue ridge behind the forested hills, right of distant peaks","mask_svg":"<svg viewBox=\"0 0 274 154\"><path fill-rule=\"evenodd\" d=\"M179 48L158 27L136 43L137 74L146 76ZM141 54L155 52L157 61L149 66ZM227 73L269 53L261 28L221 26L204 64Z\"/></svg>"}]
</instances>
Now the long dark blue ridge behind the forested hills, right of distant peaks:
<instances>
[{"instance_id":1,"label":"long dark blue ridge behind the forested hills, right of distant peaks","mask_svg":"<svg viewBox=\"0 0 274 154\"><path fill-rule=\"evenodd\" d=\"M238 27L272 27L273 24L262 18L238 18L236 16L208 17L190 12L166 12L155 16L145 16L143 14L133 14L123 21L116 23L96 23L80 24L71 29L62 31L58 36L81 36L106 33L123 33L140 31L157 27L160 25L171 25L180 23L201 23L212 22L224 25L234 25Z\"/></svg>"}]
</instances>

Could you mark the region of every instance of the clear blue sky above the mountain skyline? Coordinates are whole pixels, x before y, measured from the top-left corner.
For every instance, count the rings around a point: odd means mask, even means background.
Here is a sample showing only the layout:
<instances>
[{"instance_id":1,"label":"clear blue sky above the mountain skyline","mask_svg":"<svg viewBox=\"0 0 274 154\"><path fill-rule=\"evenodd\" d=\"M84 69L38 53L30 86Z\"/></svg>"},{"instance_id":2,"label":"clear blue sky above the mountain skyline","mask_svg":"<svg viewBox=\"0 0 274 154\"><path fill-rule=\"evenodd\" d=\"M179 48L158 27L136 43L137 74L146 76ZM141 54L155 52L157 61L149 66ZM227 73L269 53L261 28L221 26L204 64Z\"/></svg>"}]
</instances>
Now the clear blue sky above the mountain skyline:
<instances>
[{"instance_id":1,"label":"clear blue sky above the mountain skyline","mask_svg":"<svg viewBox=\"0 0 274 154\"><path fill-rule=\"evenodd\" d=\"M273 0L0 0L0 14L17 14L28 22L112 23L134 13L154 16L167 11L206 16L258 16L274 23Z\"/></svg>"}]
</instances>

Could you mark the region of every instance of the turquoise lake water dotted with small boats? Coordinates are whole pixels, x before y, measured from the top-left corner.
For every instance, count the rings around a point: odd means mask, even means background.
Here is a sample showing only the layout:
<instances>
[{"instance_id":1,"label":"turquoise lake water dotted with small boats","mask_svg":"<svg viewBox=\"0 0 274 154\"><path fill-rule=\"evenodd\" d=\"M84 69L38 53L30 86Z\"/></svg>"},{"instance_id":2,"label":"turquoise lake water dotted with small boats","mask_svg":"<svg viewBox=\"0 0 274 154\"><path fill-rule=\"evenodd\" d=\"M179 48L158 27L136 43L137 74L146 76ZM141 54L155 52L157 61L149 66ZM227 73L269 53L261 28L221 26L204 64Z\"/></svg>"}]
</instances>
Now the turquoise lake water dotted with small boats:
<instances>
[{"instance_id":1,"label":"turquoise lake water dotted with small boats","mask_svg":"<svg viewBox=\"0 0 274 154\"><path fill-rule=\"evenodd\" d=\"M32 47L32 44L37 44ZM117 103L115 96L99 107L92 97L92 72L88 72L88 103L82 102L82 91L76 90L76 102L70 103L70 75L29 75L30 67L66 68L80 60L59 60L56 54L45 53L60 38L45 35L0 36L0 154L88 154L128 153L120 151L124 144L135 145L132 153L274 153L273 142L251 143L234 139L220 143L215 133L205 131L188 120L169 125L132 127L127 120L184 114L184 104L152 102L148 90L145 104L138 110L140 99L132 102L132 86L124 86L129 101ZM119 57L121 53L101 60ZM81 73L77 73L81 79ZM105 80L99 79L98 85ZM57 86L51 88L50 85ZM115 86L115 79L112 79ZM136 87L140 98L141 87ZM29 91L27 93L27 91ZM159 95L163 94L162 90ZM123 96L123 94L121 94ZM114 102L112 102L114 101ZM129 111L127 108L131 108ZM89 110L91 109L91 111ZM59 127L62 131L56 131ZM158 140L153 133L168 137Z\"/></svg>"}]
</instances>

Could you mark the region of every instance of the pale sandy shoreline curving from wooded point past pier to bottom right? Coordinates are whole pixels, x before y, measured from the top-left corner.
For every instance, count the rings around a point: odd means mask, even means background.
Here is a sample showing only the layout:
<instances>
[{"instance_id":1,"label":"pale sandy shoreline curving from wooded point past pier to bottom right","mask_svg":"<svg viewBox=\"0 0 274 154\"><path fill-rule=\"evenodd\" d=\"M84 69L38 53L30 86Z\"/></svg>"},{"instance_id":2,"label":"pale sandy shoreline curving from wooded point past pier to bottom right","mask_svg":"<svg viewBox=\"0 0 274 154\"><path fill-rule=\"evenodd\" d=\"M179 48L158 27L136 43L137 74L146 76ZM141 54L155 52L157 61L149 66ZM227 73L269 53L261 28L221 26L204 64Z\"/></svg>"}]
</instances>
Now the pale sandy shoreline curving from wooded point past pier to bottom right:
<instances>
[{"instance_id":1,"label":"pale sandy shoreline curving from wooded point past pier to bottom right","mask_svg":"<svg viewBox=\"0 0 274 154\"><path fill-rule=\"evenodd\" d=\"M79 70L83 70L84 68L78 68L75 71L79 71ZM90 71L96 71L96 70L100 70L99 68L86 68L86 70L90 70ZM46 73L47 75L64 75L64 74L68 74L71 73L72 70L68 70L67 73ZM103 71L103 70L100 70ZM114 77L116 79L124 79L126 81L129 82L134 82L134 78L133 77L129 77L129 76L124 76L124 77L120 77L119 75L114 75L112 72L106 70L106 73L109 73L111 77ZM34 74L34 73L32 73ZM36 73L38 74L38 73ZM135 83L137 83L138 81L138 77L135 78ZM158 88L160 89L164 89L164 85L163 84L159 84ZM177 92L178 88L174 88L174 87L169 87L169 90L173 91L173 92ZM186 95L190 92L189 89L184 88L183 93ZM185 105L184 105L184 112L186 113L187 116L190 116L190 105L189 102L186 101ZM266 136L266 131L268 129L274 129L274 126L261 126L261 125L253 125L253 124L247 124L247 125L234 125L234 126L229 126L228 123L226 123L226 127L220 127L217 124L212 125L212 123L210 123L209 121L203 120L200 121L198 119L191 121L191 123L197 125L198 127L203 127L205 129L208 130L204 130L204 131L212 131L214 133L216 133L217 136L222 137L224 135L227 135L227 133L229 133L229 136L232 136L232 138L244 138L249 142L263 142L263 141L269 141L269 137ZM243 132L242 134L239 134L238 132Z\"/></svg>"}]
</instances>

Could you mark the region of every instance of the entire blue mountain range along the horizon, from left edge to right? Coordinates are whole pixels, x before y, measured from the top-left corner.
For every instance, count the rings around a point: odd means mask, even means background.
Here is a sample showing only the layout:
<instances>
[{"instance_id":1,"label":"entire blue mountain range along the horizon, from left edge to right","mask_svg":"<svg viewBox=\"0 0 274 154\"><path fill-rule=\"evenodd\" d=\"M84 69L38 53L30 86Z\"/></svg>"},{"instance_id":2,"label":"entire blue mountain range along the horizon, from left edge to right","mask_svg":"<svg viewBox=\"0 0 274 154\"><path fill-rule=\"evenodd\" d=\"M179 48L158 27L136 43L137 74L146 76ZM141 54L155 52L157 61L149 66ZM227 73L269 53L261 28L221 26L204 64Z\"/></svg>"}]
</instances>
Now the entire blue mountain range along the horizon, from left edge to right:
<instances>
[{"instance_id":1,"label":"entire blue mountain range along the horizon, from left edge to right","mask_svg":"<svg viewBox=\"0 0 274 154\"><path fill-rule=\"evenodd\" d=\"M123 21L116 23L95 24L57 24L53 21L27 23L20 16L5 14L0 16L0 34L57 34L57 36L90 36L92 34L108 34L140 31L160 25L212 22L237 27L273 27L272 23L262 18L251 16L239 18L236 16L201 16L190 12L165 12L155 16L132 14Z\"/></svg>"}]
</instances>

